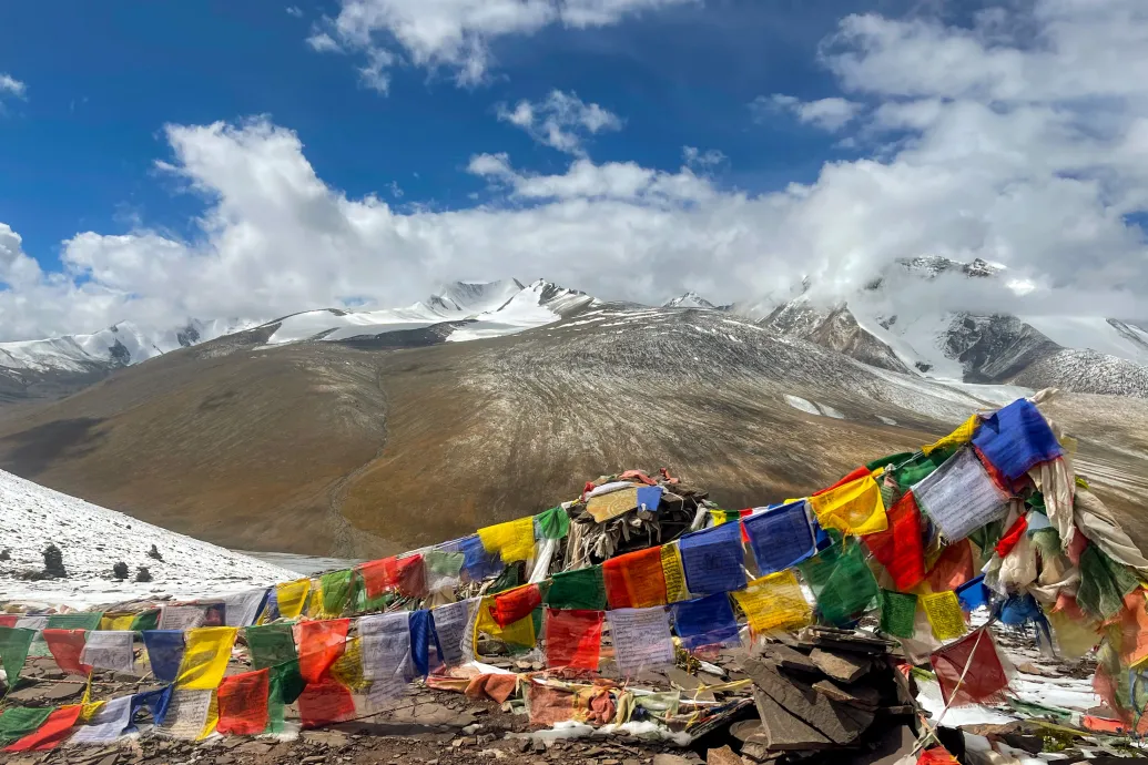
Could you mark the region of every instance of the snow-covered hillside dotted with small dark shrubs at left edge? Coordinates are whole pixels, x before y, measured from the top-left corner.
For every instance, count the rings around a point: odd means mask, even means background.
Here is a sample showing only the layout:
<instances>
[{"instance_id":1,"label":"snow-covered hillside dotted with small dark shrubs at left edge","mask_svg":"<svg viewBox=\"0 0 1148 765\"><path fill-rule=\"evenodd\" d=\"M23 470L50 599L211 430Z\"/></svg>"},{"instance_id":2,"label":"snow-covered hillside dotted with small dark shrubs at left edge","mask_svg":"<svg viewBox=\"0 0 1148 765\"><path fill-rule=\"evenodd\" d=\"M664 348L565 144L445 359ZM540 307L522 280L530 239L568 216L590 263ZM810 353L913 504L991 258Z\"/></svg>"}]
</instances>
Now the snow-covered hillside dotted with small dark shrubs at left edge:
<instances>
[{"instance_id":1,"label":"snow-covered hillside dotted with small dark shrubs at left edge","mask_svg":"<svg viewBox=\"0 0 1148 765\"><path fill-rule=\"evenodd\" d=\"M40 581L20 578L21 572L44 568L42 552L53 542L63 553L68 577ZM163 561L148 556L152 545ZM0 561L0 604L18 601L87 608L134 598L224 595L298 578L288 569L166 531L2 470L0 549L8 549L11 556ZM131 573L124 581L111 575L119 561ZM141 565L147 567L152 581L132 580Z\"/></svg>"}]
</instances>

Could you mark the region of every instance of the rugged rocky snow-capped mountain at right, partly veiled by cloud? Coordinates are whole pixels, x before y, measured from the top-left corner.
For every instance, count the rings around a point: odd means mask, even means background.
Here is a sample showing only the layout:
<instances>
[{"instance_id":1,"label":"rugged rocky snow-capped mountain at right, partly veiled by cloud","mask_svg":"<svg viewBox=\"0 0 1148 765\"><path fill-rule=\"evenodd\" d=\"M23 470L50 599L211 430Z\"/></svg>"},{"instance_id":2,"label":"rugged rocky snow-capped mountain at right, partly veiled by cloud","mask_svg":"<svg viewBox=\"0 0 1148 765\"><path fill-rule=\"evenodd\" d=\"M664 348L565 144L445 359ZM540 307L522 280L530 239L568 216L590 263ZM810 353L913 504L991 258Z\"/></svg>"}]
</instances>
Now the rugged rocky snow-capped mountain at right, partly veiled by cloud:
<instances>
[{"instance_id":1,"label":"rugged rocky snow-capped mountain at right, partly veiled by cloud","mask_svg":"<svg viewBox=\"0 0 1148 765\"><path fill-rule=\"evenodd\" d=\"M1003 266L929 256L898 260L847 300L819 299L816 284L777 305L761 326L859 361L937 380L1058 385L1077 392L1145 395L1148 331L1106 318L895 309L898 290L939 278L998 286ZM952 283L952 282L951 282ZM753 315L761 305L738 306ZM1104 374L1088 374L1095 366Z\"/></svg>"}]
</instances>

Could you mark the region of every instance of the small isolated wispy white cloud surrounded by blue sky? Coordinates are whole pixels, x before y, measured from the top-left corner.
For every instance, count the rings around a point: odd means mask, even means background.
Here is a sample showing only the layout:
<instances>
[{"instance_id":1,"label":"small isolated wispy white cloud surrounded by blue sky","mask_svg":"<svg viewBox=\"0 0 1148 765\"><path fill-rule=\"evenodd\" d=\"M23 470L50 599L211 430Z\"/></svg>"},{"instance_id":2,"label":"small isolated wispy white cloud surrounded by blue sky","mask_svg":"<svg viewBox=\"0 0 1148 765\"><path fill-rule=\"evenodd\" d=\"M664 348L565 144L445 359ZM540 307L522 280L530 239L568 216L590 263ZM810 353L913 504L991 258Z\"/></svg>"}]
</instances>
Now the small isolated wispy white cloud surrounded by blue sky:
<instances>
[{"instance_id":1,"label":"small isolated wispy white cloud surrounded by blue sky","mask_svg":"<svg viewBox=\"0 0 1148 765\"><path fill-rule=\"evenodd\" d=\"M498 119L525 130L530 138L566 154L583 155L587 135L622 128L622 120L597 103L584 103L576 93L551 91L543 101L519 101L513 109L496 107Z\"/></svg>"}]
</instances>

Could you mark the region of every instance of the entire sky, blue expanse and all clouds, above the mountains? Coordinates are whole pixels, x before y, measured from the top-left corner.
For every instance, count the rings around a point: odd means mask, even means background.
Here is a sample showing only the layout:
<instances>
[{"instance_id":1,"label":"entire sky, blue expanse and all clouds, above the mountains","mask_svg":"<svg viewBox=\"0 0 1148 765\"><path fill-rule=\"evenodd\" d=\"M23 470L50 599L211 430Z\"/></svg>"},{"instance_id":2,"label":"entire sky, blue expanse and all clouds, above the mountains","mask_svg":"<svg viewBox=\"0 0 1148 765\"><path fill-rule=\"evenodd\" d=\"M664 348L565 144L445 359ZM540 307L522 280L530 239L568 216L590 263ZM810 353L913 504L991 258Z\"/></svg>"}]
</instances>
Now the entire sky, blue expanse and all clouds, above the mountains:
<instances>
[{"instance_id":1,"label":"entire sky, blue expanse and all clouds, above the mountains","mask_svg":"<svg viewBox=\"0 0 1148 765\"><path fill-rule=\"evenodd\" d=\"M1137 0L72 0L0 36L0 339L509 275L837 299L921 253L1148 310Z\"/></svg>"}]
</instances>

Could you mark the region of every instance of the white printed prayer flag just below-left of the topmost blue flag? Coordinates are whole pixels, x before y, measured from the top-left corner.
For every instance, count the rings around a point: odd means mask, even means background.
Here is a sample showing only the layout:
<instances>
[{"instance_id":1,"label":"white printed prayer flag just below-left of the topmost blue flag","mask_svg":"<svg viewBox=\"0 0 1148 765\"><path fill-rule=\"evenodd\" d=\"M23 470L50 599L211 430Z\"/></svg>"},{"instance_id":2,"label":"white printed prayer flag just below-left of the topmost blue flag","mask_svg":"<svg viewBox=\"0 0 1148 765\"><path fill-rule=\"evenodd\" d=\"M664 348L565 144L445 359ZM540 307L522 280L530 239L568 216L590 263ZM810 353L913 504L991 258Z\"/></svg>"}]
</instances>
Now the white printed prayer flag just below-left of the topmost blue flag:
<instances>
[{"instance_id":1,"label":"white printed prayer flag just below-left of the topmost blue flag","mask_svg":"<svg viewBox=\"0 0 1148 765\"><path fill-rule=\"evenodd\" d=\"M1008 509L1008 494L969 447L914 484L913 495L949 541L964 539Z\"/></svg>"}]
</instances>

